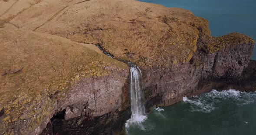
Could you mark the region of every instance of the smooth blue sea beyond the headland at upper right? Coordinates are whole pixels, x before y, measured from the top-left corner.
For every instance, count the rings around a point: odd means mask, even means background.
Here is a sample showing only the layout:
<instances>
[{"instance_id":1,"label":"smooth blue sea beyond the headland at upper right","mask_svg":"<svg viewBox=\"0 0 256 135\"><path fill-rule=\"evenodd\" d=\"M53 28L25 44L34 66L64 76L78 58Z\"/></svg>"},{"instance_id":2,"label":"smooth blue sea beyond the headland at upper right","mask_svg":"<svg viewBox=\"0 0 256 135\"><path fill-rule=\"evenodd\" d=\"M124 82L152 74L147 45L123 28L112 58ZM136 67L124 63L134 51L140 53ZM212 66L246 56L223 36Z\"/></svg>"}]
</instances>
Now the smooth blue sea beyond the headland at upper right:
<instances>
[{"instance_id":1,"label":"smooth blue sea beyond the headland at upper right","mask_svg":"<svg viewBox=\"0 0 256 135\"><path fill-rule=\"evenodd\" d=\"M213 36L239 32L256 41L256 0L139 0L180 7L209 20ZM256 60L256 47L252 59Z\"/></svg>"}]
</instances>

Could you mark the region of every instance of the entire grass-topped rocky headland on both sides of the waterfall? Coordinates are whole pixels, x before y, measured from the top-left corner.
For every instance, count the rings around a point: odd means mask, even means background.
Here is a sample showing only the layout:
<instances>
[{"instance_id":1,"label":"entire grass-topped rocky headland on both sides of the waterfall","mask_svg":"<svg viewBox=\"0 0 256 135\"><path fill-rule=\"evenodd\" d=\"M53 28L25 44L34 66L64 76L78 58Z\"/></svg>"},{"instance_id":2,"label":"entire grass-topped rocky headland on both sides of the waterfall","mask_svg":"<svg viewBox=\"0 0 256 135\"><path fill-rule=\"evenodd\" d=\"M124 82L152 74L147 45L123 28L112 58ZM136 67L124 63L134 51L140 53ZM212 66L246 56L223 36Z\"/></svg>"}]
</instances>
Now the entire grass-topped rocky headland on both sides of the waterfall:
<instances>
[{"instance_id":1,"label":"entire grass-topped rocky headland on both sides of the waterfall","mask_svg":"<svg viewBox=\"0 0 256 135\"><path fill-rule=\"evenodd\" d=\"M212 88L256 90L253 39L211 37L190 11L136 0L20 2L0 0L2 134L123 134L129 72L116 59L140 66L148 110Z\"/></svg>"}]
</instances>

